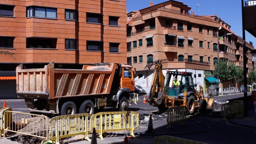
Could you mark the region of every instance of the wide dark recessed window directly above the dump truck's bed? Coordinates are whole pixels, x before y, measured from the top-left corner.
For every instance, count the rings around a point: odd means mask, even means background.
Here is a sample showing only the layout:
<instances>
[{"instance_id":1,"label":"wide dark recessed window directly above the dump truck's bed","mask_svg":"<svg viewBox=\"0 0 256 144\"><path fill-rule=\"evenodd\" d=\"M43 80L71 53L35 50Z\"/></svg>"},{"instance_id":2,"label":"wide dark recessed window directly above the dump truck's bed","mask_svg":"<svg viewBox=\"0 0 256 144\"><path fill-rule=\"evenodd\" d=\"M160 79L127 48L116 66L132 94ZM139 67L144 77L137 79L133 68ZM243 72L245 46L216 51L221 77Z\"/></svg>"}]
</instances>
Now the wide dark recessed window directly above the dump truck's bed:
<instances>
[{"instance_id":1,"label":"wide dark recessed window directly above the dump truck's bed","mask_svg":"<svg viewBox=\"0 0 256 144\"><path fill-rule=\"evenodd\" d=\"M27 48L56 49L57 38L26 38Z\"/></svg>"}]
</instances>

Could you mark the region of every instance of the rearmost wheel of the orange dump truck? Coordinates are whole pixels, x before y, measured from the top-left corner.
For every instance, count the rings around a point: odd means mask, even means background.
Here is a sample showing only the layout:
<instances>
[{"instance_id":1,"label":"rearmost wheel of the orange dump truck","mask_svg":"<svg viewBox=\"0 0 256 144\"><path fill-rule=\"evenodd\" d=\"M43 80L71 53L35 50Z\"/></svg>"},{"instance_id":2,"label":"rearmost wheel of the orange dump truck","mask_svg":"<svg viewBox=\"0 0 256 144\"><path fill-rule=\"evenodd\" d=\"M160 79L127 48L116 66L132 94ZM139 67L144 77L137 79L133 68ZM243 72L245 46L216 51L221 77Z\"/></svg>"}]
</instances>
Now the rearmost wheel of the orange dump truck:
<instances>
[{"instance_id":1,"label":"rearmost wheel of the orange dump truck","mask_svg":"<svg viewBox=\"0 0 256 144\"><path fill-rule=\"evenodd\" d=\"M61 106L61 115L71 115L77 113L77 106L74 102L65 102Z\"/></svg>"}]
</instances>

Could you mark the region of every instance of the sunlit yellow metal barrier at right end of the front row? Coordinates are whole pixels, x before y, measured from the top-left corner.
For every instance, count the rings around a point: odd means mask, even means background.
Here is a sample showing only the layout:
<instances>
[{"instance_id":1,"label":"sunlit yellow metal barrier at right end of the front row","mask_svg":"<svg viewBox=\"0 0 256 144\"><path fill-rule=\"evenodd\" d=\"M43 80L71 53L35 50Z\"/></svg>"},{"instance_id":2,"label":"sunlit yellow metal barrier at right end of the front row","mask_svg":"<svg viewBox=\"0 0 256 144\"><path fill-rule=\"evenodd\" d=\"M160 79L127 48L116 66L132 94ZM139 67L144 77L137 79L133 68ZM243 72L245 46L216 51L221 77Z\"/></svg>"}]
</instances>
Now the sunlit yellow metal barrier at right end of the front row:
<instances>
[{"instance_id":1,"label":"sunlit yellow metal barrier at right end of the front row","mask_svg":"<svg viewBox=\"0 0 256 144\"><path fill-rule=\"evenodd\" d=\"M94 115L94 127L102 140L104 132L125 131L126 128L127 131L131 132L130 135L135 137L134 130L139 127L139 113L134 111L130 111L128 114L127 111L96 113Z\"/></svg>"}]
</instances>

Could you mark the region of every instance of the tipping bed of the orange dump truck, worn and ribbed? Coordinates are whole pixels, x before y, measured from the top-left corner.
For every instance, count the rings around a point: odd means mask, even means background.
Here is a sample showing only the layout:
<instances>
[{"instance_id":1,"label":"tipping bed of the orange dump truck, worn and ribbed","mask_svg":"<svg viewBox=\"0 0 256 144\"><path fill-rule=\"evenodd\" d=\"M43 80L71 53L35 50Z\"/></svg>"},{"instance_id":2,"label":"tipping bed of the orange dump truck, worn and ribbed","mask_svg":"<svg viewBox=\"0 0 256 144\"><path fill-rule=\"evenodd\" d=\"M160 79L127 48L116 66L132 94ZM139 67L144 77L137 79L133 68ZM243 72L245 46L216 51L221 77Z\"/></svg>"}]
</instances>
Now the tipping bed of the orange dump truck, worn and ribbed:
<instances>
[{"instance_id":1,"label":"tipping bed of the orange dump truck, worn and ribbed","mask_svg":"<svg viewBox=\"0 0 256 144\"><path fill-rule=\"evenodd\" d=\"M83 69L54 69L54 63L44 68L16 68L17 95L28 98L57 99L109 94L116 63L103 66L84 65Z\"/></svg>"}]
</instances>

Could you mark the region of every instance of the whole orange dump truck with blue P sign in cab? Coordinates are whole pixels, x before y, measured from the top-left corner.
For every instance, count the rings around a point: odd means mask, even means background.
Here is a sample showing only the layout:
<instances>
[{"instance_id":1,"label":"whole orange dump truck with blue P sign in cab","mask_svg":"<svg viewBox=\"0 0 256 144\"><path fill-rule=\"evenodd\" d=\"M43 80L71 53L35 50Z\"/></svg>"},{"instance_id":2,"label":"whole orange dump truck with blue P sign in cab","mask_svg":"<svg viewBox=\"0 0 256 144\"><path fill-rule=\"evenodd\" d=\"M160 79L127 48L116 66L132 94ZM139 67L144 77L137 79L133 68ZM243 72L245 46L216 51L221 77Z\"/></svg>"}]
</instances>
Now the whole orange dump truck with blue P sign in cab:
<instances>
[{"instance_id":1,"label":"whole orange dump truck with blue P sign in cab","mask_svg":"<svg viewBox=\"0 0 256 144\"><path fill-rule=\"evenodd\" d=\"M114 107L127 110L134 96L135 69L130 65L104 63L80 69L16 67L17 95L24 98L31 113L94 113L95 109Z\"/></svg>"}]
</instances>

